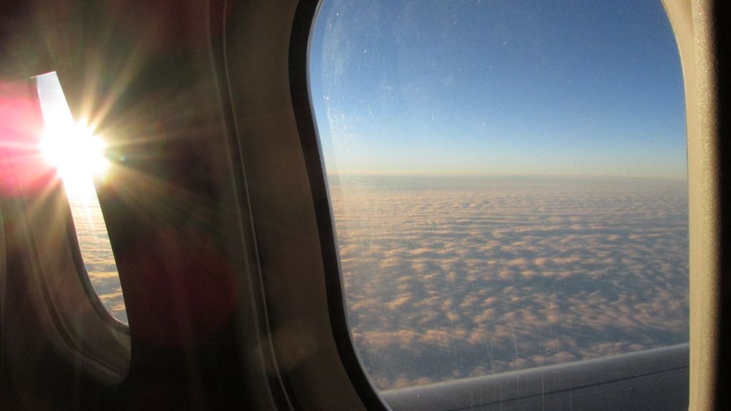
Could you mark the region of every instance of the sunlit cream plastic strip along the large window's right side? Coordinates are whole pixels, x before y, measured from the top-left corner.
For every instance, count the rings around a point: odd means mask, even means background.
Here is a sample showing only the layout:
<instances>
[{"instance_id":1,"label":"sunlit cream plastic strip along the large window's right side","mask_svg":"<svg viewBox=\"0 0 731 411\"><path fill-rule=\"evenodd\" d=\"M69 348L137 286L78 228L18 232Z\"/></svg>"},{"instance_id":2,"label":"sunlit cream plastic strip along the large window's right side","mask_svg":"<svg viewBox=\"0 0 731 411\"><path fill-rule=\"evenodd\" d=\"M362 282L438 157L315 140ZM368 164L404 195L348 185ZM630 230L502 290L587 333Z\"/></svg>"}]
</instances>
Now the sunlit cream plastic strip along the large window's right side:
<instances>
[{"instance_id":1,"label":"sunlit cream plastic strip along the large window's right side","mask_svg":"<svg viewBox=\"0 0 731 411\"><path fill-rule=\"evenodd\" d=\"M710 0L662 0L681 54L686 91L690 244L690 410L716 408L721 279L719 102Z\"/></svg>"}]
</instances>

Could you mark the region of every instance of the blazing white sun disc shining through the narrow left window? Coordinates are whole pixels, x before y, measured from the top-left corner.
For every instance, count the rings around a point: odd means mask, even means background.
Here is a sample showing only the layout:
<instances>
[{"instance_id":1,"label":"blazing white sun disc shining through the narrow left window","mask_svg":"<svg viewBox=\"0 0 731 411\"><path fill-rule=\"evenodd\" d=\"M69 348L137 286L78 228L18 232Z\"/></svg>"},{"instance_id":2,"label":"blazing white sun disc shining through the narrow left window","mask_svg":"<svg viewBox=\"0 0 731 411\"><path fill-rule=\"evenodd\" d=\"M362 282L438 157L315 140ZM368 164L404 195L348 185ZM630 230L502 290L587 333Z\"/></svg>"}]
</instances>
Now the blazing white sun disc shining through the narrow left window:
<instances>
[{"instance_id":1,"label":"blazing white sun disc shining through the narrow left window","mask_svg":"<svg viewBox=\"0 0 731 411\"><path fill-rule=\"evenodd\" d=\"M104 141L84 122L64 121L47 127L40 149L56 167L69 195L93 194L93 178L103 177L109 167Z\"/></svg>"}]
</instances>

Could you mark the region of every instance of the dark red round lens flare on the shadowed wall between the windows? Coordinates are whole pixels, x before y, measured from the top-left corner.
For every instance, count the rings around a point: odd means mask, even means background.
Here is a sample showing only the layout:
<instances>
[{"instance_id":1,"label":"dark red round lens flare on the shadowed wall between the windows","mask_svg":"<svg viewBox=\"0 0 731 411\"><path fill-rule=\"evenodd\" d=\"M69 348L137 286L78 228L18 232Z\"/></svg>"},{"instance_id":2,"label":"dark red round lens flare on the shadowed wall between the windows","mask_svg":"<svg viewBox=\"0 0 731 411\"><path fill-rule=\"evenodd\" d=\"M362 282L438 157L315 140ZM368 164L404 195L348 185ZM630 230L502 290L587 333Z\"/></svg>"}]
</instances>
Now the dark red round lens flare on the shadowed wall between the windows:
<instances>
[{"instance_id":1,"label":"dark red round lens flare on the shadowed wall between the windows","mask_svg":"<svg viewBox=\"0 0 731 411\"><path fill-rule=\"evenodd\" d=\"M159 227L135 243L119 261L120 266L137 264L138 278L144 279L130 279L125 286L135 291L125 294L125 301L137 310L128 312L137 339L157 346L205 344L232 319L237 298L233 271L211 235ZM125 262L126 257L134 263Z\"/></svg>"}]
</instances>

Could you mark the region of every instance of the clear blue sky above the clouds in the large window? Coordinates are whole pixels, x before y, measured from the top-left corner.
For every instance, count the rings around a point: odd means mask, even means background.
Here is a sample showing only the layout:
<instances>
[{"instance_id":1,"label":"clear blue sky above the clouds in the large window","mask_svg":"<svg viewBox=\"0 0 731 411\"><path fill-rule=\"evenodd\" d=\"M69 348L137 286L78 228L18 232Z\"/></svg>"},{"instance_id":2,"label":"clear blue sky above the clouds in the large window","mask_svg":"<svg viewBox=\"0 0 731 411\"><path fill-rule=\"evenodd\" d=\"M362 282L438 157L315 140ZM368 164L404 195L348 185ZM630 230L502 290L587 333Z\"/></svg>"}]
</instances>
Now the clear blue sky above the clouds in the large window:
<instances>
[{"instance_id":1,"label":"clear blue sky above the clouds in the large window","mask_svg":"<svg viewBox=\"0 0 731 411\"><path fill-rule=\"evenodd\" d=\"M330 173L686 178L659 1L323 1L310 81Z\"/></svg>"}]
</instances>

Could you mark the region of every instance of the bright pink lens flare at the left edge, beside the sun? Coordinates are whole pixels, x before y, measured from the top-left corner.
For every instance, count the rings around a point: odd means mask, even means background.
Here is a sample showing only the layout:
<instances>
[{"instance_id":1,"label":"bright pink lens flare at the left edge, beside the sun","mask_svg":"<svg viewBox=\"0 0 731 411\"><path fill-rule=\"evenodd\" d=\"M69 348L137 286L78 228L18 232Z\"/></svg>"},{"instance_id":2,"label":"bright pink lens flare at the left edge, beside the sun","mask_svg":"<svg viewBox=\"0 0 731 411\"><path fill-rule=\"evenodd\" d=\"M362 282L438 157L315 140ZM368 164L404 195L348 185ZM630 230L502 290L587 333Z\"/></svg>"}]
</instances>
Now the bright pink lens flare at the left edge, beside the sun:
<instances>
[{"instance_id":1,"label":"bright pink lens flare at the left edge, beside the sun","mask_svg":"<svg viewBox=\"0 0 731 411\"><path fill-rule=\"evenodd\" d=\"M43 114L32 80L0 83L0 195L33 194L50 184L53 167L43 159Z\"/></svg>"}]
</instances>

